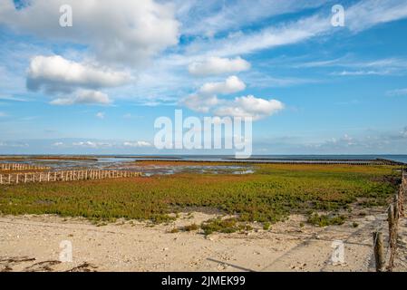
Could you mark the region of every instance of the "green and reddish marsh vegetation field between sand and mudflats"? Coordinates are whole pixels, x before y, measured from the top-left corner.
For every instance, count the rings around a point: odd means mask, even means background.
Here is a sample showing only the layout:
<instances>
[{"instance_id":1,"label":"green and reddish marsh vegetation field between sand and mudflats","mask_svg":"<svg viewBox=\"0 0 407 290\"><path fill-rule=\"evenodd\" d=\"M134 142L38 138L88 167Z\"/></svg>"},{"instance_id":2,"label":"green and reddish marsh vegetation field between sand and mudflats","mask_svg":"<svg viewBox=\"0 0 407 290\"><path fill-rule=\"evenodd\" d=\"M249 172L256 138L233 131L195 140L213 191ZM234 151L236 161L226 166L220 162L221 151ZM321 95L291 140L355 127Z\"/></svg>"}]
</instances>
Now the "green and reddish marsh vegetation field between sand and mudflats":
<instances>
[{"instance_id":1,"label":"green and reddish marsh vegetation field between sand and mudflats","mask_svg":"<svg viewBox=\"0 0 407 290\"><path fill-rule=\"evenodd\" d=\"M0 213L164 222L173 219L170 214L174 212L210 208L236 217L203 223L200 227L205 233L234 232L252 221L270 227L292 213L306 214L308 222L315 225L340 225L344 222L343 213L351 205L361 208L385 205L400 181L400 172L391 166L253 167L256 172L247 175L180 173L2 186Z\"/></svg>"}]
</instances>

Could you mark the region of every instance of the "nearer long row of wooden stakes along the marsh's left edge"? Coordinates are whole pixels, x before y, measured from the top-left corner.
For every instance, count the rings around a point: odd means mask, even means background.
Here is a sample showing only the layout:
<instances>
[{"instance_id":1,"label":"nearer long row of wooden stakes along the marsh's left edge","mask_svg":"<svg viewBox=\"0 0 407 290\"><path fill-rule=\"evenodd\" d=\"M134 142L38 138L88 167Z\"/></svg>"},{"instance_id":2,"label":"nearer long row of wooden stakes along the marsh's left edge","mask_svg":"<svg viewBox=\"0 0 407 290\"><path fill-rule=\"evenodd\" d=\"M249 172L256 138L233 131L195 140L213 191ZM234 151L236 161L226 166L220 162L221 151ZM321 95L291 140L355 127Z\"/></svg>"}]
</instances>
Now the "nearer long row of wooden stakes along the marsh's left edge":
<instances>
[{"instance_id":1,"label":"nearer long row of wooden stakes along the marsh's left edge","mask_svg":"<svg viewBox=\"0 0 407 290\"><path fill-rule=\"evenodd\" d=\"M48 172L27 172L0 174L1 184L19 184L28 182L75 181L90 179L120 179L141 176L141 172L122 170L61 170Z\"/></svg>"}]
</instances>

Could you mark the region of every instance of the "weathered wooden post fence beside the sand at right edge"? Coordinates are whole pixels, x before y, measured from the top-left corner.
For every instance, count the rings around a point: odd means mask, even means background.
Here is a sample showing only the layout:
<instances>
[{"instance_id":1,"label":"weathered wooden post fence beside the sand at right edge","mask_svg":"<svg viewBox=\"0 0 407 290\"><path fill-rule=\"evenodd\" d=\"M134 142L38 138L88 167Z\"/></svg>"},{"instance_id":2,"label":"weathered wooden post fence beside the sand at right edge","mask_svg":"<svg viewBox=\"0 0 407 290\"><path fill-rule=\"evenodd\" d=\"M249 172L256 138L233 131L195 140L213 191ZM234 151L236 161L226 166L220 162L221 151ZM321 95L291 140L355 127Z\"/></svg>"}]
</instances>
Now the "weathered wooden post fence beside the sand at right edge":
<instances>
[{"instance_id":1,"label":"weathered wooden post fence beside the sand at right edge","mask_svg":"<svg viewBox=\"0 0 407 290\"><path fill-rule=\"evenodd\" d=\"M394 267L394 259L397 255L397 239L398 228L400 218L404 218L404 198L407 195L407 172L402 168L402 184L399 191L394 194L392 203L387 210L387 221L389 223L389 261L386 261L386 257L383 253L383 237L380 231L373 232L373 251L376 262L376 271L392 272ZM387 264L387 266L386 266Z\"/></svg>"}]
</instances>

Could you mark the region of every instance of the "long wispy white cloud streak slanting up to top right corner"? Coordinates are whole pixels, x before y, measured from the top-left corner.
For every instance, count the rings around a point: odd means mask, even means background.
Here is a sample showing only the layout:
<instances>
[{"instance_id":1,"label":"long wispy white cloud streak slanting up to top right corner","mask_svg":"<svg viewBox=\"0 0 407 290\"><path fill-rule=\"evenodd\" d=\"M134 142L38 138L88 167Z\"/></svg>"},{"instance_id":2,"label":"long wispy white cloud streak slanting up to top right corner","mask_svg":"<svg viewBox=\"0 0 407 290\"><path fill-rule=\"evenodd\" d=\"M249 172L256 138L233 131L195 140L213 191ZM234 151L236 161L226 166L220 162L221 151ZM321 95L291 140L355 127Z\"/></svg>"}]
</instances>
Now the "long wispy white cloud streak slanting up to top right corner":
<instances>
[{"instance_id":1,"label":"long wispy white cloud streak slanting up to top right corner","mask_svg":"<svg viewBox=\"0 0 407 290\"><path fill-rule=\"evenodd\" d=\"M407 17L407 3L393 0L361 1L346 8L345 15L344 29L359 33L374 25ZM228 57L302 43L316 36L333 34L337 31L338 28L331 25L331 17L332 14L317 13L297 20L273 24L255 32L237 30L230 32L226 37L197 39L187 46L186 54L194 55L196 58L201 58L202 54Z\"/></svg>"}]
</instances>

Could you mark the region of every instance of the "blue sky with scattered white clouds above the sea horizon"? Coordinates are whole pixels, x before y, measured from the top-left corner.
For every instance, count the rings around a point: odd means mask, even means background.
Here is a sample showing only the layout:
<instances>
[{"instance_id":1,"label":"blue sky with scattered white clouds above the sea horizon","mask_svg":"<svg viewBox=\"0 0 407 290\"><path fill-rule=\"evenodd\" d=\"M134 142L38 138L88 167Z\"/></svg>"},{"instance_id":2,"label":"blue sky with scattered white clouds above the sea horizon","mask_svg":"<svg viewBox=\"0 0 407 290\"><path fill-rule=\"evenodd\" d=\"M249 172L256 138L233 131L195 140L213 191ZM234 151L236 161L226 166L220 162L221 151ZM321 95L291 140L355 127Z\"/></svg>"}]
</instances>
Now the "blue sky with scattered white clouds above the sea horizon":
<instances>
[{"instance_id":1,"label":"blue sky with scattered white clouds above the sea horizon","mask_svg":"<svg viewBox=\"0 0 407 290\"><path fill-rule=\"evenodd\" d=\"M254 117L255 154L406 154L406 35L405 0L4 0L0 153L202 153L152 145L182 109Z\"/></svg>"}]
</instances>

